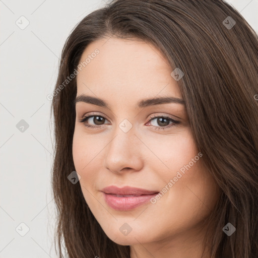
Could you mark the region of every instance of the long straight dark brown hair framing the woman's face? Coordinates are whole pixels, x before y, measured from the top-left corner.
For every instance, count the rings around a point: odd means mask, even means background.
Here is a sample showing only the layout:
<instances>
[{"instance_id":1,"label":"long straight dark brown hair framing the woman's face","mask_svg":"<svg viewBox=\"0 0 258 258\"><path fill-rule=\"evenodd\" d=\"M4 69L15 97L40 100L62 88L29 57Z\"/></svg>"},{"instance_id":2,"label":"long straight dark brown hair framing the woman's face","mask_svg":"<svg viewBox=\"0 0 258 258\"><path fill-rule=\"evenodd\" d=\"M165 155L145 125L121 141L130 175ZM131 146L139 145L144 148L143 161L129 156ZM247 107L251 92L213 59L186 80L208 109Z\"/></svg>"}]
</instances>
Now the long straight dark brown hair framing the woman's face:
<instances>
[{"instance_id":1,"label":"long straight dark brown hair framing the woman's face","mask_svg":"<svg viewBox=\"0 0 258 258\"><path fill-rule=\"evenodd\" d=\"M55 240L71 258L128 258L130 246L111 241L85 202L75 170L76 78L85 48L106 37L139 38L160 49L178 81L197 148L220 198L206 223L211 258L258 257L258 38L222 0L114 0L86 16L61 54L51 111L54 116ZM100 53L101 54L101 53ZM63 87L60 87L63 85ZM52 118L52 116L51 116ZM228 236L223 227L236 231ZM56 244L55 244L56 250Z\"/></svg>"}]
</instances>

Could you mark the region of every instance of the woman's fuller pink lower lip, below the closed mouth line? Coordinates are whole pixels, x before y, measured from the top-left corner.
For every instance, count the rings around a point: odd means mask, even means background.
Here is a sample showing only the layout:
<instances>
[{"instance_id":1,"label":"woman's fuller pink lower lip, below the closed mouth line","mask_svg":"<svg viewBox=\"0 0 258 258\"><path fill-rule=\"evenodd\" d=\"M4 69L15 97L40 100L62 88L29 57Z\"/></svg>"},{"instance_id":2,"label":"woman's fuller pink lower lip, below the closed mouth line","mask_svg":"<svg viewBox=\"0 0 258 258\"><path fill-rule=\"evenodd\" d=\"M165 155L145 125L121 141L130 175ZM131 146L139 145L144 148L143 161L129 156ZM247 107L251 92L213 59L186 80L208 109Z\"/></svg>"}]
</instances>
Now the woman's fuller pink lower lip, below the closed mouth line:
<instances>
[{"instance_id":1,"label":"woman's fuller pink lower lip, below the closed mouth line","mask_svg":"<svg viewBox=\"0 0 258 258\"><path fill-rule=\"evenodd\" d=\"M156 195L158 195L158 193L153 193L152 195L136 196L136 197L116 197L116 196L104 193L104 199L106 203L114 210L128 211L128 210L135 209L140 205L148 203L150 199L152 199Z\"/></svg>"}]
</instances>

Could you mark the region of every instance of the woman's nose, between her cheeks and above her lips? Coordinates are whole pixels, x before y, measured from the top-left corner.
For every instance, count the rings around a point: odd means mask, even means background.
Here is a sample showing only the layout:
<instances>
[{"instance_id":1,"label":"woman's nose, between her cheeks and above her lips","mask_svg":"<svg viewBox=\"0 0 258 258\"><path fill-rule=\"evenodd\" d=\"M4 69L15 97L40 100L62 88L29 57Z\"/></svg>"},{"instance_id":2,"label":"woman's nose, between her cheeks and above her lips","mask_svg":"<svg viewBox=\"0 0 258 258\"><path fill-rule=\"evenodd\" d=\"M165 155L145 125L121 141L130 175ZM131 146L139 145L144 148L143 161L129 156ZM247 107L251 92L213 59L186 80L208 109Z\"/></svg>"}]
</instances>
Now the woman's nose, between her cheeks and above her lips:
<instances>
[{"instance_id":1,"label":"woman's nose, between her cheeks and above her lips","mask_svg":"<svg viewBox=\"0 0 258 258\"><path fill-rule=\"evenodd\" d=\"M141 170L143 143L138 137L133 128L125 133L118 127L105 148L105 168L116 174Z\"/></svg>"}]
</instances>

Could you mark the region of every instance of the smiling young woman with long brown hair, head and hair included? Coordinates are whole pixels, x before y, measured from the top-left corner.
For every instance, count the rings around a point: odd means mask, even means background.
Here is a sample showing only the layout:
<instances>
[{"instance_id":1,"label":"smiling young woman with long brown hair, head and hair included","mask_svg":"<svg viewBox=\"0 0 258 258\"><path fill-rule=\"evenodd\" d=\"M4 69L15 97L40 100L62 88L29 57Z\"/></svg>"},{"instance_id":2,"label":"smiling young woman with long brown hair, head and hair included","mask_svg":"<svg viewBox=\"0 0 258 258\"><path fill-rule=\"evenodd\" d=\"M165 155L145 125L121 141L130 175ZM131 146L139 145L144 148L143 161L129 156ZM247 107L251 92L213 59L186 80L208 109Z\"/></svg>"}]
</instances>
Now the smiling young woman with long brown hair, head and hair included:
<instances>
[{"instance_id":1,"label":"smiling young woman with long brown hair, head and hair included","mask_svg":"<svg viewBox=\"0 0 258 258\"><path fill-rule=\"evenodd\" d=\"M257 56L217 0L115 0L75 27L52 101L60 257L258 257Z\"/></svg>"}]
</instances>

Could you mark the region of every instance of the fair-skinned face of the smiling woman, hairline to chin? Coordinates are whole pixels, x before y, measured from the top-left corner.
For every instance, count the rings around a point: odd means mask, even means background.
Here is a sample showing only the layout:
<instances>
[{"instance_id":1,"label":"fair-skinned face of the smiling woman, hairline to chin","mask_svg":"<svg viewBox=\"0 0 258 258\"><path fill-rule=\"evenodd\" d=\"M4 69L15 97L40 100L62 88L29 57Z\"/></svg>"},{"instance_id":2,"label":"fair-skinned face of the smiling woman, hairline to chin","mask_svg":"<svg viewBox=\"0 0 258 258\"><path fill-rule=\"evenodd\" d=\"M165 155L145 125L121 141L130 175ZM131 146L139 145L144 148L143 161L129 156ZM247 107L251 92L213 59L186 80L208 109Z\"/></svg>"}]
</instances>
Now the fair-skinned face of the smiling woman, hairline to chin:
<instances>
[{"instance_id":1,"label":"fair-skinned face of the smiling woman, hairline to chin","mask_svg":"<svg viewBox=\"0 0 258 258\"><path fill-rule=\"evenodd\" d=\"M76 102L73 159L91 212L121 245L196 235L214 208L217 186L201 165L185 106L138 106L182 99L168 62L149 43L112 37L91 43L80 63L86 58L77 76L77 98L85 98ZM91 117L81 122L85 116ZM107 186L153 194L117 197L103 192Z\"/></svg>"}]
</instances>

